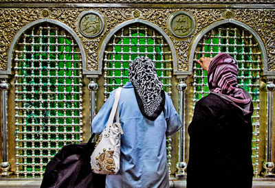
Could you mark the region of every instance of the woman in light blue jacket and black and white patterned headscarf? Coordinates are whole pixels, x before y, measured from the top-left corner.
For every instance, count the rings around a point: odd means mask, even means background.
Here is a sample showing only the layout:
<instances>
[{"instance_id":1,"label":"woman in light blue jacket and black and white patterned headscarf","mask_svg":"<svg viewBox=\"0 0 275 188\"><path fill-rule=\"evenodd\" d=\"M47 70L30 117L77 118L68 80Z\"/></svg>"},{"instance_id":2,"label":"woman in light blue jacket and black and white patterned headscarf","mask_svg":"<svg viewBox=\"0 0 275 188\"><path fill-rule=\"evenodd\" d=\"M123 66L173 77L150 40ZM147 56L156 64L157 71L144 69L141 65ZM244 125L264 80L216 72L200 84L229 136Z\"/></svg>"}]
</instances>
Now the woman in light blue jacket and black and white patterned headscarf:
<instances>
[{"instance_id":1,"label":"woman in light blue jacket and black and white patterned headscarf","mask_svg":"<svg viewBox=\"0 0 275 188\"><path fill-rule=\"evenodd\" d=\"M129 81L118 104L124 132L120 171L107 176L106 187L169 187L166 136L177 132L181 121L151 59L136 58L129 67ZM92 122L96 134L104 130L114 97L112 91Z\"/></svg>"}]
</instances>

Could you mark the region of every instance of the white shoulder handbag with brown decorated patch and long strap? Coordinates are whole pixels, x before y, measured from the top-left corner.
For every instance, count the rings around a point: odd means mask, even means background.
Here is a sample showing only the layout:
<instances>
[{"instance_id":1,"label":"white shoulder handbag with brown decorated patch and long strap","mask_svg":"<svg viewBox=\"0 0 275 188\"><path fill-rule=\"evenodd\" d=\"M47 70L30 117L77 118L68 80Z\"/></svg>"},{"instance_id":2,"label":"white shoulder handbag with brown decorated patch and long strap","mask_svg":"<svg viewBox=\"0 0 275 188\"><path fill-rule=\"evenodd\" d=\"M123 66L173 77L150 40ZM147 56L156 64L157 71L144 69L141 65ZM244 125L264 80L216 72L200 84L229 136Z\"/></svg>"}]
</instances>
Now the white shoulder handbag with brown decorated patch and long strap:
<instances>
[{"instance_id":1,"label":"white shoulder handbag with brown decorated patch and long strap","mask_svg":"<svg viewBox=\"0 0 275 188\"><path fill-rule=\"evenodd\" d=\"M117 174L120 169L120 136L123 130L120 126L118 100L122 88L115 91L115 101L107 121L107 125L100 134L93 154L91 154L91 169L96 174ZM115 123L113 118L115 116Z\"/></svg>"}]
</instances>

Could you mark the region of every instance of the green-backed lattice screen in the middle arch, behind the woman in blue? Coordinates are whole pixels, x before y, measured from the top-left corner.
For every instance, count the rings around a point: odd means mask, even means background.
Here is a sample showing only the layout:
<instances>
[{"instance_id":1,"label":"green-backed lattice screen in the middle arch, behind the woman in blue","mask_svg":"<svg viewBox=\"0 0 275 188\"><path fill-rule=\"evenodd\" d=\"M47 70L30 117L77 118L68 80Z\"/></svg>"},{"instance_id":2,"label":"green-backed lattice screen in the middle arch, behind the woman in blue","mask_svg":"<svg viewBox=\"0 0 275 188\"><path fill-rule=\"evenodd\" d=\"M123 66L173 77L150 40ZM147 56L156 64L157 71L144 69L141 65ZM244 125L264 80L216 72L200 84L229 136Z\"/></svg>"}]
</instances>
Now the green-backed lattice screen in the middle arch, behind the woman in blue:
<instances>
[{"instance_id":1,"label":"green-backed lattice screen in the middle arch, behind the woman in blue","mask_svg":"<svg viewBox=\"0 0 275 188\"><path fill-rule=\"evenodd\" d=\"M143 24L128 25L116 32L104 51L104 95L129 81L129 64L138 56L147 56L155 62L157 75L164 91L170 95L172 78L172 55L164 37ZM171 139L167 139L168 167L170 167Z\"/></svg>"}]
</instances>

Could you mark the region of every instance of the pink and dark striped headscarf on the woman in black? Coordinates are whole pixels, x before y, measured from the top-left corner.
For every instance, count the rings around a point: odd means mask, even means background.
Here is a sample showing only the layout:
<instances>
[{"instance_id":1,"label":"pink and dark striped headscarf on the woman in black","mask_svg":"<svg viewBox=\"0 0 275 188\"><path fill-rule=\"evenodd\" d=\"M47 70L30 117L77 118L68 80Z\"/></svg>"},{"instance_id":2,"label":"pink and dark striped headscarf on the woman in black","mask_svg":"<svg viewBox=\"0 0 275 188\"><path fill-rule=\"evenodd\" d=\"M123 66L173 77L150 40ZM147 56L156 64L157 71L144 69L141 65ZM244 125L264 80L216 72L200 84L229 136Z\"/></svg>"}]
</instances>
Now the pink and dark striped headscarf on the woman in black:
<instances>
[{"instance_id":1,"label":"pink and dark striped headscarf on the woman in black","mask_svg":"<svg viewBox=\"0 0 275 188\"><path fill-rule=\"evenodd\" d=\"M240 108L243 115L252 113L252 97L244 89L238 88L239 67L234 58L225 53L215 56L208 67L208 86L211 93L219 95L227 102Z\"/></svg>"}]
</instances>

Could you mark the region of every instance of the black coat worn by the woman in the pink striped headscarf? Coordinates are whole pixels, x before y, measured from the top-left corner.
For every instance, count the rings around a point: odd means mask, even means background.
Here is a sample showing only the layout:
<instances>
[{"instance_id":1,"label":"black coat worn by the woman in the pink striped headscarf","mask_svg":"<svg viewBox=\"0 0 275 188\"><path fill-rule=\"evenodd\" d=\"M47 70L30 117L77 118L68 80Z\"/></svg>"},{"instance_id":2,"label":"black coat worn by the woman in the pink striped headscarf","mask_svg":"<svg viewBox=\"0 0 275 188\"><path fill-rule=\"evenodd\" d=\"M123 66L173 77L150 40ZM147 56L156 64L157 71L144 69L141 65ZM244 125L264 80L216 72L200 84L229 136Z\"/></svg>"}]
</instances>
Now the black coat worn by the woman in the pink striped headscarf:
<instances>
[{"instance_id":1,"label":"black coat worn by the woman in the pink striped headscarf","mask_svg":"<svg viewBox=\"0 0 275 188\"><path fill-rule=\"evenodd\" d=\"M251 115L211 93L197 102L188 127L188 188L252 187Z\"/></svg>"}]
</instances>

